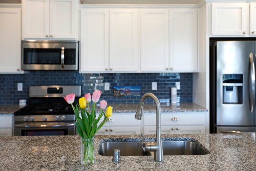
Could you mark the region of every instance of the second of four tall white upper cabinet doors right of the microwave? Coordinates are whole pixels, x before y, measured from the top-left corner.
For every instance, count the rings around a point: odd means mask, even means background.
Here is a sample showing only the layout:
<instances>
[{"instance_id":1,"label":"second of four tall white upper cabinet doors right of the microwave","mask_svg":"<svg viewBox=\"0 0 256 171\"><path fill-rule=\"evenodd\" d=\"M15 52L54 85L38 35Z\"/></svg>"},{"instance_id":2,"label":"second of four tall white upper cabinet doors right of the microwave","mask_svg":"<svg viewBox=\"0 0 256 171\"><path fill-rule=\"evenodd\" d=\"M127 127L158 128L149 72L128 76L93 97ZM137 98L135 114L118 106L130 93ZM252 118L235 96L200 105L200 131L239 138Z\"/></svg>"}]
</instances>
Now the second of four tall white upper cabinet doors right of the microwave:
<instances>
[{"instance_id":1,"label":"second of four tall white upper cabinet doors right of the microwave","mask_svg":"<svg viewBox=\"0 0 256 171\"><path fill-rule=\"evenodd\" d=\"M110 70L137 71L138 9L110 9Z\"/></svg>"}]
</instances>

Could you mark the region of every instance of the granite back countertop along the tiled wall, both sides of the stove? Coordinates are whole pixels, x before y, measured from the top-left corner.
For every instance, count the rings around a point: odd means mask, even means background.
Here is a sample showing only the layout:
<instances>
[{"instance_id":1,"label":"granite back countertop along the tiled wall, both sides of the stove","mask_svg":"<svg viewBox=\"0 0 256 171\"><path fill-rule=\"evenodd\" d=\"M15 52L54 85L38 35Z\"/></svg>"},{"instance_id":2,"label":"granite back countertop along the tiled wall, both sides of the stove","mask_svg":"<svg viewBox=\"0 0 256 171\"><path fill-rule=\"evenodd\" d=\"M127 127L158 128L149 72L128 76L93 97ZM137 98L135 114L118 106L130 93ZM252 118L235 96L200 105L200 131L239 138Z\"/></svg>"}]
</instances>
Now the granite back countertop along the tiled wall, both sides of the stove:
<instances>
[{"instance_id":1,"label":"granite back countertop along the tiled wall, both sides of the stove","mask_svg":"<svg viewBox=\"0 0 256 171\"><path fill-rule=\"evenodd\" d=\"M96 111L100 110L99 103L96 106ZM136 113L139 103L109 103L113 108L113 113ZM90 104L91 108L91 104ZM13 115L15 111L19 110L19 105L0 105L0 115ZM155 103L144 103L144 113L155 113ZM196 103L161 103L161 112L207 112L207 109Z\"/></svg>"}]
</instances>

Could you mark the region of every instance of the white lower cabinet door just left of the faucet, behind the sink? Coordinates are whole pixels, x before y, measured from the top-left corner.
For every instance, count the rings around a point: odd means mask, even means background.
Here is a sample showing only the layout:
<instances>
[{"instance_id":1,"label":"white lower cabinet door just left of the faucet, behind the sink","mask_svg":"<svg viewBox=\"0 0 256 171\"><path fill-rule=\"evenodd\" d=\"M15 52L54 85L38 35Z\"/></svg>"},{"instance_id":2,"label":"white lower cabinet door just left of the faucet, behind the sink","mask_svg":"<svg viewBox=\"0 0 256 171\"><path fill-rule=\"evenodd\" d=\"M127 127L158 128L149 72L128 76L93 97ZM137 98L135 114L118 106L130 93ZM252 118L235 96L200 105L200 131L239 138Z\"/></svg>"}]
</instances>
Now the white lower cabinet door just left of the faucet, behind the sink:
<instances>
[{"instance_id":1,"label":"white lower cabinet door just left of the faucet, behind the sink","mask_svg":"<svg viewBox=\"0 0 256 171\"><path fill-rule=\"evenodd\" d=\"M135 135L140 134L140 126L110 127L110 135Z\"/></svg>"}]
</instances>

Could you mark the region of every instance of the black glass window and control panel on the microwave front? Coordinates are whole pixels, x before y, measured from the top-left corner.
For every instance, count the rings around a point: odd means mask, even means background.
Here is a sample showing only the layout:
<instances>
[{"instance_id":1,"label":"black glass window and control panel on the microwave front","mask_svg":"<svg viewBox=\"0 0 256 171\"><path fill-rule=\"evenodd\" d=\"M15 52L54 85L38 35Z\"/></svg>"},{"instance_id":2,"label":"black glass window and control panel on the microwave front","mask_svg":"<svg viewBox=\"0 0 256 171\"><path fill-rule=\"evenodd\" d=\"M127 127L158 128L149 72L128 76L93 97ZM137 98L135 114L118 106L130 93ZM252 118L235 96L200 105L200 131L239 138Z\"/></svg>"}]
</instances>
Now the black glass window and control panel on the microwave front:
<instances>
[{"instance_id":1,"label":"black glass window and control panel on the microwave front","mask_svg":"<svg viewBox=\"0 0 256 171\"><path fill-rule=\"evenodd\" d=\"M61 49L32 49L24 48L23 63L29 64L44 64L44 65L60 65L61 64ZM65 49L64 64L75 65L76 51L75 49Z\"/></svg>"}]
</instances>

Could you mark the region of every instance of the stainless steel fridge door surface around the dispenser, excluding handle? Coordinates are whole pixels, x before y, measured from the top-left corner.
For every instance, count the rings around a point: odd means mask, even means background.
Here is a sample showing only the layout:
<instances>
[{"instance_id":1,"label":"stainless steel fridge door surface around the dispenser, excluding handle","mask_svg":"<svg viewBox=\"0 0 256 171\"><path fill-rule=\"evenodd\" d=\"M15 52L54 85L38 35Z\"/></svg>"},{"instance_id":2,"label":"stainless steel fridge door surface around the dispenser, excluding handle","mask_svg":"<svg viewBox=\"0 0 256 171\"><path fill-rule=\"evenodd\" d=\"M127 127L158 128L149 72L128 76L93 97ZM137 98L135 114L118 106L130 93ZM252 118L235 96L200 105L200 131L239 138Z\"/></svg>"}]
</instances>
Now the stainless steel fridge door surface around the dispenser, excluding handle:
<instances>
[{"instance_id":1,"label":"stainless steel fridge door surface around the dispenser, excluding handle","mask_svg":"<svg viewBox=\"0 0 256 171\"><path fill-rule=\"evenodd\" d=\"M217 125L254 125L249 94L250 53L254 54L254 41L217 42ZM223 103L223 74L243 74L242 103Z\"/></svg>"}]
</instances>

